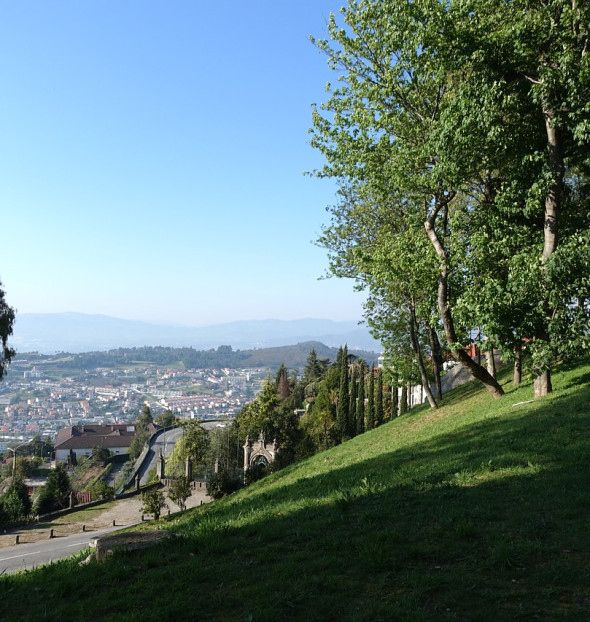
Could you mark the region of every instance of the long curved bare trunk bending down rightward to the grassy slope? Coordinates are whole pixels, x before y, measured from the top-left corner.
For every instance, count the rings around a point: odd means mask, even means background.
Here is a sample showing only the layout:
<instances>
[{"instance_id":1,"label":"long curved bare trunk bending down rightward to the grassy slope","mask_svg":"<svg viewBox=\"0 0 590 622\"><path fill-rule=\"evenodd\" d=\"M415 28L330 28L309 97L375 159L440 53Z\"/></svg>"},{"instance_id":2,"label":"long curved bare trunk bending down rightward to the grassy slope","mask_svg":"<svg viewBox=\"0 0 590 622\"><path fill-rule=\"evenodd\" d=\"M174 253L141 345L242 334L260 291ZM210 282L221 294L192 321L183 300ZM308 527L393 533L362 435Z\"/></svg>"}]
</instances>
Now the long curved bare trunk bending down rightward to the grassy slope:
<instances>
[{"instance_id":1,"label":"long curved bare trunk bending down rightward to the grassy slope","mask_svg":"<svg viewBox=\"0 0 590 622\"><path fill-rule=\"evenodd\" d=\"M448 200L449 199L447 198L446 203L448 203ZM457 343L459 340L457 339L457 333L455 332L455 325L453 322L453 315L451 313L448 302L447 251L442 246L438 235L434 229L434 221L436 220L436 216L439 210L444 205L446 205L446 203L441 203L440 199L437 198L435 207L432 209L432 211L428 215L428 219L424 223L428 239L434 246L434 250L436 251L441 260L440 274L438 277L437 303L443 328L445 331L445 337L447 338L447 342L449 344L449 348L451 349L451 354L453 358L461 363L461 365L463 365L463 367L465 367L474 378L482 382L486 389L492 394L492 396L497 399L504 395L504 390L502 389L502 387L494 378L492 378L487 369L485 369L481 365L478 365Z\"/></svg>"}]
</instances>

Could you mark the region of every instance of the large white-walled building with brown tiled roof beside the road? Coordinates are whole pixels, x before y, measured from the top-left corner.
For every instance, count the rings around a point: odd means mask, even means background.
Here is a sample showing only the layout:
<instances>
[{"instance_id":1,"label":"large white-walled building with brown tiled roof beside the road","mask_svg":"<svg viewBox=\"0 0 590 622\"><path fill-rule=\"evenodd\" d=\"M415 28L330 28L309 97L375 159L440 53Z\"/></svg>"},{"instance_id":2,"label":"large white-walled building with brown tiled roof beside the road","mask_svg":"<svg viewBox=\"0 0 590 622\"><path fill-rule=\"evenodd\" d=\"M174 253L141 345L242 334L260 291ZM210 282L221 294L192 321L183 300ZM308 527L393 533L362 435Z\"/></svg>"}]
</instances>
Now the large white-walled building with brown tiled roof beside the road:
<instances>
[{"instance_id":1,"label":"large white-walled building with brown tiled roof beside the road","mask_svg":"<svg viewBox=\"0 0 590 622\"><path fill-rule=\"evenodd\" d=\"M135 437L129 424L75 425L62 428L55 439L55 463L67 462L70 453L76 458L89 456L94 447L104 447L112 454L126 454Z\"/></svg>"}]
</instances>

